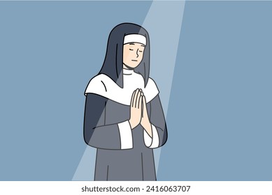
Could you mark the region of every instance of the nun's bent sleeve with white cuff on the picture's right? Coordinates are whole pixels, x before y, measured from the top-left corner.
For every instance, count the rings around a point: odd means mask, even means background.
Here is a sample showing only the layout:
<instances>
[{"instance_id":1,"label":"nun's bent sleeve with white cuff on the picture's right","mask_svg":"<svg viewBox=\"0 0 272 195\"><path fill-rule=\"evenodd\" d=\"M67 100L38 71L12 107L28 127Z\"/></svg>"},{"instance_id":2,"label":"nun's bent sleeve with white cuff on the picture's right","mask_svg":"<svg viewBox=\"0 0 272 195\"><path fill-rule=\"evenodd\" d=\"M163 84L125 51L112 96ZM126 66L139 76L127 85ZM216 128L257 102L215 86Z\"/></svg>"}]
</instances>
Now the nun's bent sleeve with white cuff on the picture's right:
<instances>
[{"instance_id":1,"label":"nun's bent sleeve with white cuff on the picture's right","mask_svg":"<svg viewBox=\"0 0 272 195\"><path fill-rule=\"evenodd\" d=\"M152 138L144 131L145 145L149 148L158 148L163 146L167 140L167 127L159 95L150 102L149 117L152 126Z\"/></svg>"}]
</instances>

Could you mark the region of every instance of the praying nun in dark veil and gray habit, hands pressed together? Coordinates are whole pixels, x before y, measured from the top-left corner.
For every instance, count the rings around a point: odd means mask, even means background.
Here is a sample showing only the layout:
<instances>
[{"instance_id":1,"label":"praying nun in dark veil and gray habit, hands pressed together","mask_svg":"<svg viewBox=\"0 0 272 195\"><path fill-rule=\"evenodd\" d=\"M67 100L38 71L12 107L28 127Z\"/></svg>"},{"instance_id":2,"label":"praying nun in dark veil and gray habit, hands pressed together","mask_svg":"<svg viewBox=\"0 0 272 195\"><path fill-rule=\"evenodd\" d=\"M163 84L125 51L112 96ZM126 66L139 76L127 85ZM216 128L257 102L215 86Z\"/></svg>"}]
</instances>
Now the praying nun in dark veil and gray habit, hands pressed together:
<instances>
[{"instance_id":1,"label":"praying nun in dark veil and gray habit, hands pressed together","mask_svg":"<svg viewBox=\"0 0 272 195\"><path fill-rule=\"evenodd\" d=\"M94 180L156 180L152 148L167 139L159 91L149 78L148 32L123 23L110 32L103 66L85 95L85 142L97 148Z\"/></svg>"}]
</instances>

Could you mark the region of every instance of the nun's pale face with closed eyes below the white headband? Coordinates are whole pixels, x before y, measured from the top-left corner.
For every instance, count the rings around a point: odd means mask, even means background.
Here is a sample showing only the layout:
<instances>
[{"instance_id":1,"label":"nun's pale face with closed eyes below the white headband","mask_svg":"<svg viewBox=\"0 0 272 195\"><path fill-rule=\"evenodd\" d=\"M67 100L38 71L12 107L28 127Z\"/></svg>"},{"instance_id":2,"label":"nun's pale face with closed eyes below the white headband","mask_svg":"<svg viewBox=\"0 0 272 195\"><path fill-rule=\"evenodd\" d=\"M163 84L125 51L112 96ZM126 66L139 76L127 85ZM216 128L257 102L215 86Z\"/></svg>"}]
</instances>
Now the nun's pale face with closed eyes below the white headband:
<instances>
[{"instance_id":1,"label":"nun's pale face with closed eyes below the white headband","mask_svg":"<svg viewBox=\"0 0 272 195\"><path fill-rule=\"evenodd\" d=\"M143 59L145 45L129 42L123 45L123 63L129 68L136 68Z\"/></svg>"}]
</instances>

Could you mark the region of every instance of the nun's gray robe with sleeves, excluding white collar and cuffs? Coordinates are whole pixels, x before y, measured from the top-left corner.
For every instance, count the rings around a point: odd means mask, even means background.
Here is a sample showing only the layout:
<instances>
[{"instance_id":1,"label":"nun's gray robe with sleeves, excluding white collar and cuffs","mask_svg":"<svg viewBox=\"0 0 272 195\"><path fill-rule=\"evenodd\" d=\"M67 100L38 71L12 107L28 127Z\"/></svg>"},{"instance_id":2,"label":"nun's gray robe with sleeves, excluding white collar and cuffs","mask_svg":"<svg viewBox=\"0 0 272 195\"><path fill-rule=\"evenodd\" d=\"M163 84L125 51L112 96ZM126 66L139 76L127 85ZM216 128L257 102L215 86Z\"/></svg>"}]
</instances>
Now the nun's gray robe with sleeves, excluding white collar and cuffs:
<instances>
[{"instance_id":1,"label":"nun's gray robe with sleeves, excluding white collar and cuffs","mask_svg":"<svg viewBox=\"0 0 272 195\"><path fill-rule=\"evenodd\" d=\"M150 123L157 129L159 147L167 139L166 123L159 95L147 104ZM87 93L84 139L97 148L94 180L156 180L152 148L145 146L143 127L132 130L133 148L121 149L117 123L129 120L130 107Z\"/></svg>"}]
</instances>

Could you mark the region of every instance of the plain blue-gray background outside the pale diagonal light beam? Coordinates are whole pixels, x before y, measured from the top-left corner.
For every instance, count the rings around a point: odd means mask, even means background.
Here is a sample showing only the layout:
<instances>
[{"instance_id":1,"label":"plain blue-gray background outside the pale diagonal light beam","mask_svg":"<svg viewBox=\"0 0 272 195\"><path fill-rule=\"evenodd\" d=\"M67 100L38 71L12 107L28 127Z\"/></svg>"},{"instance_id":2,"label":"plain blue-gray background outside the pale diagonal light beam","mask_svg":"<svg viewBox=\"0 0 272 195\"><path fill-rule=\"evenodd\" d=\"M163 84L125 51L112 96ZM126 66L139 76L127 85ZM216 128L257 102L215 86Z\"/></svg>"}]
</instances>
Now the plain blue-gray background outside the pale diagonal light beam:
<instances>
[{"instance_id":1,"label":"plain blue-gray background outside the pale diagonal light beam","mask_svg":"<svg viewBox=\"0 0 272 195\"><path fill-rule=\"evenodd\" d=\"M108 33L143 24L151 3L0 1L0 180L73 178L86 148L83 92ZM271 10L186 1L159 180L272 180Z\"/></svg>"}]
</instances>

